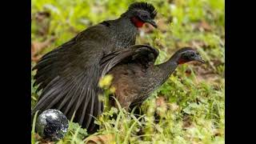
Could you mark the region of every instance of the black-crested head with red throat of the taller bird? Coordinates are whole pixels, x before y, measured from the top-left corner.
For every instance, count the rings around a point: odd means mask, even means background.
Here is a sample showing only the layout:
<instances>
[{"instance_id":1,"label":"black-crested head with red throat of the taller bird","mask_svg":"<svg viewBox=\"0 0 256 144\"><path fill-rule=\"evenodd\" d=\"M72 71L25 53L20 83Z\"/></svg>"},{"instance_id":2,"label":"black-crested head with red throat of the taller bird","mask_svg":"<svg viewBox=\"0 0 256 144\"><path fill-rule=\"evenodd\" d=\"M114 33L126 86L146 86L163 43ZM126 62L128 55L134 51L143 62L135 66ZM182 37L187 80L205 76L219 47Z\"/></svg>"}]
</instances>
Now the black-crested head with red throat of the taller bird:
<instances>
[{"instance_id":1,"label":"black-crested head with red throat of the taller bird","mask_svg":"<svg viewBox=\"0 0 256 144\"><path fill-rule=\"evenodd\" d=\"M121 16L130 18L134 26L142 27L144 23L150 23L150 25L157 28L157 24L154 22L154 17L157 15L157 11L154 6L146 2L134 2L132 3L126 13Z\"/></svg>"}]
</instances>

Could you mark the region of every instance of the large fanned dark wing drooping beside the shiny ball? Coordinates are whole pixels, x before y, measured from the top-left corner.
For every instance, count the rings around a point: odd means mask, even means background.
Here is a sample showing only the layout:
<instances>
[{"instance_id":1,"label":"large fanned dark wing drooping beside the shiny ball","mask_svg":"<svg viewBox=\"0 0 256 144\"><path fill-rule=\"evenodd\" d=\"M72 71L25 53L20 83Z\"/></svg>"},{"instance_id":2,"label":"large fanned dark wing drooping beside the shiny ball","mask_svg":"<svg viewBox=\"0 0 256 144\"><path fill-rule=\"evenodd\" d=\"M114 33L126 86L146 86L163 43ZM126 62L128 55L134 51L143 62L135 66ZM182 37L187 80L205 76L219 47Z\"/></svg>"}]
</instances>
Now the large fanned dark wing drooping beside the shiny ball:
<instances>
[{"instance_id":1,"label":"large fanned dark wing drooping beside the shiny ball","mask_svg":"<svg viewBox=\"0 0 256 144\"><path fill-rule=\"evenodd\" d=\"M99 62L106 44L102 44L101 33L96 31L101 28L78 34L44 55L34 66L33 70L37 70L34 85L39 85L42 94L32 114L36 110L58 109L70 119L75 112L74 122L86 129L94 127L93 118L103 108L98 99L101 92L98 79L101 76Z\"/></svg>"}]
</instances>

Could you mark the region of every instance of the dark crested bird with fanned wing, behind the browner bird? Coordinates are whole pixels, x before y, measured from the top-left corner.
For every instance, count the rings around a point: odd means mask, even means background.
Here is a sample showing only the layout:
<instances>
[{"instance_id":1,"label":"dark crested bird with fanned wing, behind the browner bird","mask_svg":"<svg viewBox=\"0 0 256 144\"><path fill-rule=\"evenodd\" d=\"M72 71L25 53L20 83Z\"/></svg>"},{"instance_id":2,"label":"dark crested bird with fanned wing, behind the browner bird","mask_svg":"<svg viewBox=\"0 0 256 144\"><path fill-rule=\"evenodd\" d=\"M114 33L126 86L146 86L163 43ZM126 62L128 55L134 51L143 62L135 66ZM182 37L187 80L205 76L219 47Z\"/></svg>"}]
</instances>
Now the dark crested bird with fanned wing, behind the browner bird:
<instances>
[{"instance_id":1,"label":"dark crested bird with fanned wing, behind the browner bird","mask_svg":"<svg viewBox=\"0 0 256 144\"><path fill-rule=\"evenodd\" d=\"M103 110L98 99L102 93L98 81L114 66L110 64L111 58L104 59L109 64L101 65L102 58L134 46L138 29L144 23L157 28L156 15L152 4L134 2L120 18L90 26L43 55L32 69L37 70L34 86L42 93L31 115L36 111L40 114L49 109L61 110L68 119L74 115L73 122L78 122L89 134L94 133L98 129L94 118Z\"/></svg>"}]
</instances>

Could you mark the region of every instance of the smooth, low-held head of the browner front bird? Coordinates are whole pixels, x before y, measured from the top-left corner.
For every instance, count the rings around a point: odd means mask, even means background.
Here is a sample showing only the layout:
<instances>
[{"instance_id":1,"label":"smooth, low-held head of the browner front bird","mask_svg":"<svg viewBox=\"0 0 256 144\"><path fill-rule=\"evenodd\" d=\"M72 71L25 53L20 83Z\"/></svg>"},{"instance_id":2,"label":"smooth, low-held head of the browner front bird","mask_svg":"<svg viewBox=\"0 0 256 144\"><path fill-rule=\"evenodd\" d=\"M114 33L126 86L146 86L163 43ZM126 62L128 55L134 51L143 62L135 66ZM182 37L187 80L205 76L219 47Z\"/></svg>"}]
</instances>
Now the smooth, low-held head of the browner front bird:
<instances>
[{"instance_id":1,"label":"smooth, low-held head of the browner front bird","mask_svg":"<svg viewBox=\"0 0 256 144\"><path fill-rule=\"evenodd\" d=\"M184 47L176 52L178 54L178 64L183 64L191 61L198 61L204 63L205 61L201 58L197 50L191 47Z\"/></svg>"}]
</instances>

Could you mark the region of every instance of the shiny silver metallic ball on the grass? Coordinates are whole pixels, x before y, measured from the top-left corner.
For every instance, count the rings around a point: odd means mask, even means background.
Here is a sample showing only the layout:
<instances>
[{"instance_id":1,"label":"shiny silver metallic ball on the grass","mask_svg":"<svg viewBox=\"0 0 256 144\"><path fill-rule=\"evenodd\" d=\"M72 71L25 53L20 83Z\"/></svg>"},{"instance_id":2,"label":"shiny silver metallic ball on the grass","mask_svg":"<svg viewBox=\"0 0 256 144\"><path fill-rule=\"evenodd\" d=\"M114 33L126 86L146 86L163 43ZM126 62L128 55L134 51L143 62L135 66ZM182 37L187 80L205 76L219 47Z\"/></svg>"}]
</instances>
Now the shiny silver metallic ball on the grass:
<instances>
[{"instance_id":1,"label":"shiny silver metallic ball on the grass","mask_svg":"<svg viewBox=\"0 0 256 144\"><path fill-rule=\"evenodd\" d=\"M69 127L69 122L60 110L45 110L39 115L36 123L38 134L50 141L64 138Z\"/></svg>"}]
</instances>

